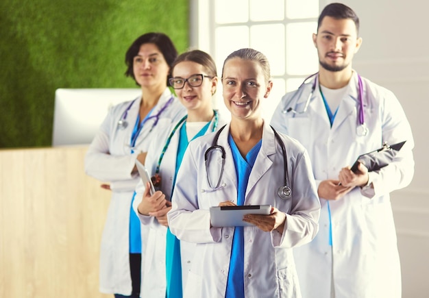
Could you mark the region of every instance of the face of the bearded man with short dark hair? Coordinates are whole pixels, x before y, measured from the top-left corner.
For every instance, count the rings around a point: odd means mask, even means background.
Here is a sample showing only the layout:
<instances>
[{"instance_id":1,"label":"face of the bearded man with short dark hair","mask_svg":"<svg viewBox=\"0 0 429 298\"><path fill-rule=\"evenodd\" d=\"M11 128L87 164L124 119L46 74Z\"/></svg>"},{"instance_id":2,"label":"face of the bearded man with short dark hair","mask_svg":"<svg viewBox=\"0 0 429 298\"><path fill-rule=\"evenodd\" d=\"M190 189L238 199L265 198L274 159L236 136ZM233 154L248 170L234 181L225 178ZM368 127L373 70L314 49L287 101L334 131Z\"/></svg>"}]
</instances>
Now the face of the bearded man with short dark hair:
<instances>
[{"instance_id":1,"label":"face of the bearded man with short dark hair","mask_svg":"<svg viewBox=\"0 0 429 298\"><path fill-rule=\"evenodd\" d=\"M354 21L325 16L313 42L319 55L319 64L327 71L343 71L352 68L354 54L358 52L362 38L357 37Z\"/></svg>"}]
</instances>

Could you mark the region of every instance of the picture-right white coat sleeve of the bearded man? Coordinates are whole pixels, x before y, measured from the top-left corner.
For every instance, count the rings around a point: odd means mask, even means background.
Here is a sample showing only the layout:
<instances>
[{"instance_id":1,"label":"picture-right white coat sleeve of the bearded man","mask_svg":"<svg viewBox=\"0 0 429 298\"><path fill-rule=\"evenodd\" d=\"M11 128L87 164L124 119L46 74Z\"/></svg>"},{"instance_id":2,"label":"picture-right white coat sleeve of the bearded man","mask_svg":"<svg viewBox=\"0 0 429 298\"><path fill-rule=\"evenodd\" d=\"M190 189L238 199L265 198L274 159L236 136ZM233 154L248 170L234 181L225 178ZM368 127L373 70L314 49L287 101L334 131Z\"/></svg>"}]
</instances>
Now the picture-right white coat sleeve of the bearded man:
<instances>
[{"instance_id":1,"label":"picture-right white coat sleeve of the bearded man","mask_svg":"<svg viewBox=\"0 0 429 298\"><path fill-rule=\"evenodd\" d=\"M389 145L406 140L406 143L393 161L378 171L370 172L372 188L360 190L365 197L380 197L391 193L393 190L404 188L410 184L414 176L413 148L414 139L410 124L400 102L393 92L384 90L380 106L380 118L382 119L383 142Z\"/></svg>"}]
</instances>

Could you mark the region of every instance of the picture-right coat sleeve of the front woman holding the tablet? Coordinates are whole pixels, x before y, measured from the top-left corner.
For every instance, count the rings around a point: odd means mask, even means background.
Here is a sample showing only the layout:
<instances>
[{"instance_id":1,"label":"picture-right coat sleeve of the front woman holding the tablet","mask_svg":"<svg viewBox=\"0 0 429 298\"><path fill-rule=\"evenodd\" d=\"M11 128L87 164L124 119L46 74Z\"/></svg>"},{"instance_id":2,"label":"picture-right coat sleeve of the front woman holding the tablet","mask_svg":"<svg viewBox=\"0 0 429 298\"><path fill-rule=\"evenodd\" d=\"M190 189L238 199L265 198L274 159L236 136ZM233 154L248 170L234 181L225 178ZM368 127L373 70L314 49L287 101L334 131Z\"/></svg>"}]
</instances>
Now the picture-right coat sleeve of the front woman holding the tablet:
<instances>
[{"instance_id":1,"label":"picture-right coat sleeve of the front woman holding the tablet","mask_svg":"<svg viewBox=\"0 0 429 298\"><path fill-rule=\"evenodd\" d=\"M282 234L271 232L274 247L291 248L309 243L319 230L320 202L312 174L310 157L304 151L293 167L292 206L286 213ZM281 210L280 210L281 211Z\"/></svg>"}]
</instances>

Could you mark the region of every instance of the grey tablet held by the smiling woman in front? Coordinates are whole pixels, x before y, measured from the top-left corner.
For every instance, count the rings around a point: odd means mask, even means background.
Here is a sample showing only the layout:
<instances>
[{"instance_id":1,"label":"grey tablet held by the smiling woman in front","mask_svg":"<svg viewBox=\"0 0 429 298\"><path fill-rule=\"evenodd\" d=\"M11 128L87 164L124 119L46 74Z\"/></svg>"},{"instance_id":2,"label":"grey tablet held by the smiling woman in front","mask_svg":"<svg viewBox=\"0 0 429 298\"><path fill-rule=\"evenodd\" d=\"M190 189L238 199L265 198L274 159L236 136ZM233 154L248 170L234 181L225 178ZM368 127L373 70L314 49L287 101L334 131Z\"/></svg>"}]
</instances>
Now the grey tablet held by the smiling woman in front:
<instances>
[{"instance_id":1,"label":"grey tablet held by the smiling woman in front","mask_svg":"<svg viewBox=\"0 0 429 298\"><path fill-rule=\"evenodd\" d=\"M271 205L216 206L210 207L210 221L213 227L245 227L252 225L243 221L245 214L268 215Z\"/></svg>"}]
</instances>

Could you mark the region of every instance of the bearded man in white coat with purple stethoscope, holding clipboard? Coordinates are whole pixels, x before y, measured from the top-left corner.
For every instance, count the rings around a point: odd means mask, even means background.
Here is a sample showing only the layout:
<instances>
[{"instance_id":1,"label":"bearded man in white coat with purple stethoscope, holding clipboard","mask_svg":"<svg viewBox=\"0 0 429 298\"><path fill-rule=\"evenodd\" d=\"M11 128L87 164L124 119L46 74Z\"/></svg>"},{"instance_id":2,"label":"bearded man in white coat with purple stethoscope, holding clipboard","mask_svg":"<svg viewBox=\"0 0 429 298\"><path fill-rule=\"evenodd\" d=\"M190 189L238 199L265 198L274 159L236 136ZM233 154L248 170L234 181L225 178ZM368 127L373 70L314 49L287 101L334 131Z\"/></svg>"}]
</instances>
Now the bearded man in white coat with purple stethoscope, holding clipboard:
<instances>
[{"instance_id":1,"label":"bearded man in white coat with purple stethoscope, holding clipboard","mask_svg":"<svg viewBox=\"0 0 429 298\"><path fill-rule=\"evenodd\" d=\"M319 72L282 98L271 121L308 150L321 202L319 233L293 249L305 298L401 297L389 193L413 178L413 135L393 92L352 69L358 29L346 5L323 9L312 36ZM404 140L382 169L350 170L360 154Z\"/></svg>"}]
</instances>

